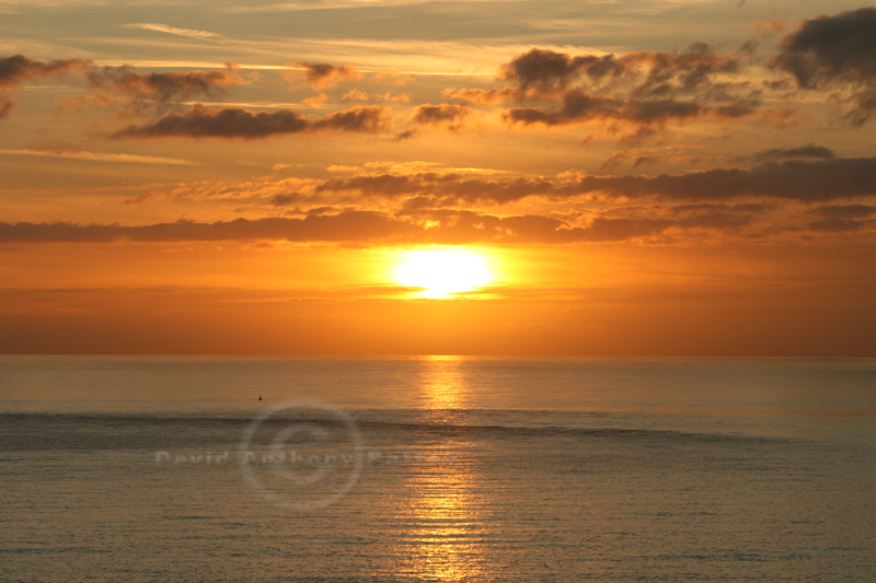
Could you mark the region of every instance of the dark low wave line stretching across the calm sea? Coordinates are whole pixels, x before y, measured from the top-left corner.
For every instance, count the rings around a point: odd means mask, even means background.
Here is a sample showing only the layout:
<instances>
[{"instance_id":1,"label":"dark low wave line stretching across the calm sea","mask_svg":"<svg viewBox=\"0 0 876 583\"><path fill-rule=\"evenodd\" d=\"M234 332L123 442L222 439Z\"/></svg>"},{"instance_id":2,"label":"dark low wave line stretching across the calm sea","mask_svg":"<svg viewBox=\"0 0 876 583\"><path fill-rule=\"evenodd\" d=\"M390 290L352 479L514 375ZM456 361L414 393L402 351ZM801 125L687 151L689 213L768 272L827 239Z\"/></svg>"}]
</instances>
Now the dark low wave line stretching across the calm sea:
<instances>
[{"instance_id":1,"label":"dark low wave line stretching across the calm sea","mask_svg":"<svg viewBox=\"0 0 876 583\"><path fill-rule=\"evenodd\" d=\"M393 434L403 434L416 440L430 438L463 438L470 440L506 440L506 439L611 439L652 442L747 442L768 443L789 441L787 439L736 435L715 432L691 432L645 427L604 427L604 416L600 425L581 427L587 417L562 419L551 416L550 423L537 421L532 411L526 411L528 423L516 422L515 411L489 411L492 417L502 417L502 423L493 419L483 419L483 411L466 411L463 422L459 419L450 422L441 420L412 419L428 411L422 410L381 410L379 419L369 418L354 411L354 417L366 439L380 439ZM462 417L462 416L460 416ZM479 418L480 417L480 418ZM595 417L596 419L596 417ZM631 421L626 419L625 421ZM16 412L0 413L0 450L48 450L48 448L149 448L166 447L169 442L216 443L222 441L234 443L251 423L252 416L233 415L173 415L173 413L47 413ZM324 427L336 424L336 420L320 416L296 416L268 419L263 422L266 428L281 428L289 422L320 423ZM568 424L557 424L568 421Z\"/></svg>"}]
</instances>

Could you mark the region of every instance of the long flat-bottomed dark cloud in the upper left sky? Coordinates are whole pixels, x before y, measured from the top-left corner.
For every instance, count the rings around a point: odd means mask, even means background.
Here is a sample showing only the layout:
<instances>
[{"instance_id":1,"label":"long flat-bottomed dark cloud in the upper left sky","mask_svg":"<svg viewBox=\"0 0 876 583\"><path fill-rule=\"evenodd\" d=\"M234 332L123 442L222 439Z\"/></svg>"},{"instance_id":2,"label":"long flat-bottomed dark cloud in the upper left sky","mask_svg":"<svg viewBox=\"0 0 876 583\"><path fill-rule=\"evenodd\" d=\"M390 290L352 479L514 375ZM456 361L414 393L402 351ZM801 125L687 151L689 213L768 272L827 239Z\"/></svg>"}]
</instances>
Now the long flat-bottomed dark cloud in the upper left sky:
<instances>
[{"instance_id":1,"label":"long flat-bottomed dark cloud in the upper left sky","mask_svg":"<svg viewBox=\"0 0 876 583\"><path fill-rule=\"evenodd\" d=\"M369 105L311 120L293 109L250 112L241 107L212 108L195 104L183 114L170 113L152 124L131 125L110 137L127 138L244 138L289 133L376 133L388 128L384 108Z\"/></svg>"}]
</instances>

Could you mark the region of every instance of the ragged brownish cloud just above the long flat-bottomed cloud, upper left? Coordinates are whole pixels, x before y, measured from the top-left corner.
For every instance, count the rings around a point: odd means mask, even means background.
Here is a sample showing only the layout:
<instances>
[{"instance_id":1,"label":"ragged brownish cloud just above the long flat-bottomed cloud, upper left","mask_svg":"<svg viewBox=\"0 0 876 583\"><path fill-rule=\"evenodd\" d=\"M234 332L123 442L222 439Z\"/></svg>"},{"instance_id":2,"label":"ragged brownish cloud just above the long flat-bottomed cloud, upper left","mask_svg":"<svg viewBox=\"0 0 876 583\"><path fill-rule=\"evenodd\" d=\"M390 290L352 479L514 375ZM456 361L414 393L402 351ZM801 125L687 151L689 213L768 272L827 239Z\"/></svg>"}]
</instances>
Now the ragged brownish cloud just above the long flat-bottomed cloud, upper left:
<instances>
[{"instance_id":1,"label":"ragged brownish cloud just above the long flat-bottomed cloud, upper left","mask_svg":"<svg viewBox=\"0 0 876 583\"><path fill-rule=\"evenodd\" d=\"M215 96L232 85L244 84L244 79L229 68L226 71L191 71L181 73L139 73L129 66L102 67L85 73L89 84L103 91L117 93L130 102L146 101L166 104L187 101L196 96Z\"/></svg>"}]
</instances>

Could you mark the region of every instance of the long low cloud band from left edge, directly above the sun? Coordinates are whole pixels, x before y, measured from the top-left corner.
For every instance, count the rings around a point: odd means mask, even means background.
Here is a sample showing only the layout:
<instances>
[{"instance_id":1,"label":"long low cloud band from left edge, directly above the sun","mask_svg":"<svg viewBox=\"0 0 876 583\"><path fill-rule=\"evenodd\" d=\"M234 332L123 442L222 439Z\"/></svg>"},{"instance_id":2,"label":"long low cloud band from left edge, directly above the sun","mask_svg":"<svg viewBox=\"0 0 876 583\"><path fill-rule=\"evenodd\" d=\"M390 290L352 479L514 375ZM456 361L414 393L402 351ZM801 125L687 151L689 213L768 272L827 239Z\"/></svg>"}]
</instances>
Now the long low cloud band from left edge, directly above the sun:
<instances>
[{"instance_id":1,"label":"long low cloud band from left edge, directly above the sun","mask_svg":"<svg viewBox=\"0 0 876 583\"><path fill-rule=\"evenodd\" d=\"M237 219L215 223L177 221L140 226L74 223L0 223L0 243L176 243L206 241L289 241L465 244L625 241L659 234L676 225L667 219L595 219L587 228L539 215L496 217L439 209L413 220L370 211L304 218Z\"/></svg>"}]
</instances>

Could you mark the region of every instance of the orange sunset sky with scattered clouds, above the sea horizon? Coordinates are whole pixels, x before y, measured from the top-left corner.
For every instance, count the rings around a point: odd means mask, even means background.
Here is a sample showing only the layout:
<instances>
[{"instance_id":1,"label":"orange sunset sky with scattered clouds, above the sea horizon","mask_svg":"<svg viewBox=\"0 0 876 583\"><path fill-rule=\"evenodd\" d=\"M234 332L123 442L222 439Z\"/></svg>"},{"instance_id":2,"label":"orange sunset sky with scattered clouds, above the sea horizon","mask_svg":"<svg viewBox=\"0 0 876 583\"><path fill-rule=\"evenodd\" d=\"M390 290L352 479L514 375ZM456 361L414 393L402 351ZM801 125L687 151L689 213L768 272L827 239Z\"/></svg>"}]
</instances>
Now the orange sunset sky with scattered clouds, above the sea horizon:
<instances>
[{"instance_id":1,"label":"orange sunset sky with scattered clouds, above the sea horizon","mask_svg":"<svg viewBox=\"0 0 876 583\"><path fill-rule=\"evenodd\" d=\"M0 14L2 352L876 355L874 8Z\"/></svg>"}]
</instances>

